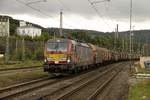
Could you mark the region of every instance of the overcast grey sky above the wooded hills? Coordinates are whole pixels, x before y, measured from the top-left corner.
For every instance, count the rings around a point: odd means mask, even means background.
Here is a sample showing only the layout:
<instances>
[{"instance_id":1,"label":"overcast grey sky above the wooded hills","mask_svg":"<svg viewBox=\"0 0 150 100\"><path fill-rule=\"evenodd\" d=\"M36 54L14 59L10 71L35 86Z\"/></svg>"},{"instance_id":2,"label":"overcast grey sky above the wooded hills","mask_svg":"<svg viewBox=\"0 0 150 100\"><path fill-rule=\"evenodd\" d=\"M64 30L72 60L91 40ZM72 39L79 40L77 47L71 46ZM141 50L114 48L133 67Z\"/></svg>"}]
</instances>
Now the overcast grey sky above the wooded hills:
<instances>
[{"instance_id":1,"label":"overcast grey sky above the wooded hills","mask_svg":"<svg viewBox=\"0 0 150 100\"><path fill-rule=\"evenodd\" d=\"M46 0L46 2L31 3L33 1L40 0L0 0L0 14L43 27L59 27L59 12L62 9L64 28L104 32L114 31L116 24L119 24L119 31L130 28L130 0L96 3L93 6L97 12L88 0ZM134 29L150 29L150 0L133 0L132 19Z\"/></svg>"}]
</instances>

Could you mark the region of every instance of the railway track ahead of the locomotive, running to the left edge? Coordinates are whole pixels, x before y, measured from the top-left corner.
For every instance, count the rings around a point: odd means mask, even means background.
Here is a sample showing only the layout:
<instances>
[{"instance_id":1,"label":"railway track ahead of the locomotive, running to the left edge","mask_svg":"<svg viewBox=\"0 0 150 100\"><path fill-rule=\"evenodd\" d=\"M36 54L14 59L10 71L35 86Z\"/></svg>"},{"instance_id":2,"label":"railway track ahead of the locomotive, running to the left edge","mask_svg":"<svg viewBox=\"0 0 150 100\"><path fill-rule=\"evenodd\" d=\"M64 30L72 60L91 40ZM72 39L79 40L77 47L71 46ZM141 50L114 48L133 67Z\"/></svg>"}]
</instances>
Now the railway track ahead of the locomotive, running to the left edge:
<instances>
[{"instance_id":1,"label":"railway track ahead of the locomotive, running to the left edge","mask_svg":"<svg viewBox=\"0 0 150 100\"><path fill-rule=\"evenodd\" d=\"M0 100L13 98L15 96L22 95L24 93L42 88L44 86L57 83L58 81L60 81L60 80L59 79L50 79L49 77L46 77L46 78L41 78L41 79L33 80L30 82L6 87L3 89L0 89Z\"/></svg>"}]
</instances>

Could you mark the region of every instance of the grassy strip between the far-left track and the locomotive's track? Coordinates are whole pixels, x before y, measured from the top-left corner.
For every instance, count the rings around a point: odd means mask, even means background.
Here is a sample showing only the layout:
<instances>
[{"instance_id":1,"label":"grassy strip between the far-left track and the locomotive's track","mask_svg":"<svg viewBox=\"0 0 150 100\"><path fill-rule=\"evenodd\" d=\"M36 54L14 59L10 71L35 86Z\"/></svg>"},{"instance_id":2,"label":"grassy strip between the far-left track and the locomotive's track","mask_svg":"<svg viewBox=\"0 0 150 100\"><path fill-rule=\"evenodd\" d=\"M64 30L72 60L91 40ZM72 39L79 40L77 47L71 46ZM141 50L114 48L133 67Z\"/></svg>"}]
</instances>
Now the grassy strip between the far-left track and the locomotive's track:
<instances>
[{"instance_id":1,"label":"grassy strip between the far-left track and the locomotive's track","mask_svg":"<svg viewBox=\"0 0 150 100\"><path fill-rule=\"evenodd\" d=\"M0 76L0 88L45 76L48 76L48 74L43 72L43 70L35 70L25 73L18 72L14 75Z\"/></svg>"}]
</instances>

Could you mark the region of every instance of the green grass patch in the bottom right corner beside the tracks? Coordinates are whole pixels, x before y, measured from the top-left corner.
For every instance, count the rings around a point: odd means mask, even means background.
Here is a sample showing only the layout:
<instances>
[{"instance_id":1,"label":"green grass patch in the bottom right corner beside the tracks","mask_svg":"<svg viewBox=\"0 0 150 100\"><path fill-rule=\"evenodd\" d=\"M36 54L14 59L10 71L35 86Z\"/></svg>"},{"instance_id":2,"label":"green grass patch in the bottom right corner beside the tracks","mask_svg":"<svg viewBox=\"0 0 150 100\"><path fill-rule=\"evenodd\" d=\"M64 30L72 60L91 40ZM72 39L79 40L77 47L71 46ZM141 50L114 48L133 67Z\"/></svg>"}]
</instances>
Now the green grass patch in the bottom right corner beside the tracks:
<instances>
[{"instance_id":1,"label":"green grass patch in the bottom right corner beside the tracks","mask_svg":"<svg viewBox=\"0 0 150 100\"><path fill-rule=\"evenodd\" d=\"M129 100L150 100L150 79L141 79L129 89Z\"/></svg>"}]
</instances>

